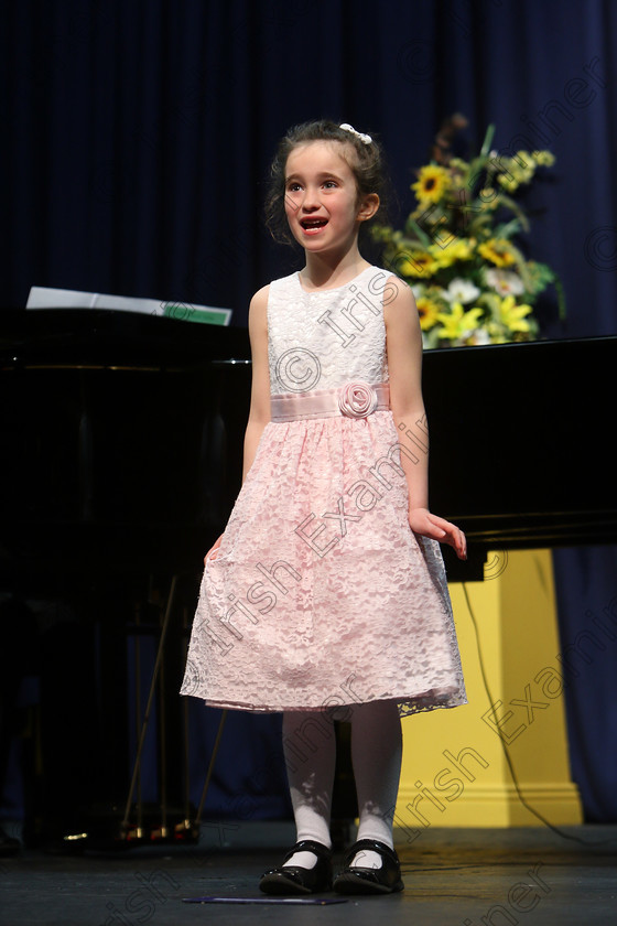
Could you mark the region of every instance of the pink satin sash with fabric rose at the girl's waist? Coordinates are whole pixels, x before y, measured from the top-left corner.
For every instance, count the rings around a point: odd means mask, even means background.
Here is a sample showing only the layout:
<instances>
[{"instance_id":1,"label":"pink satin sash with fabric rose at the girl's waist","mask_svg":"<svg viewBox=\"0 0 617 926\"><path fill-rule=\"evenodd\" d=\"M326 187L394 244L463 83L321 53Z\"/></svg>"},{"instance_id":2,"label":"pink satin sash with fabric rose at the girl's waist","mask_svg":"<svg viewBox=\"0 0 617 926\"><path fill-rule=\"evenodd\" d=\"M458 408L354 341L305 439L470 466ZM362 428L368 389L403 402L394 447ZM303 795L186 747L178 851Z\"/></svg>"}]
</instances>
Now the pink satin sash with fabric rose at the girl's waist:
<instances>
[{"instance_id":1,"label":"pink satin sash with fabric rose at the girl's waist","mask_svg":"<svg viewBox=\"0 0 617 926\"><path fill-rule=\"evenodd\" d=\"M375 411L387 411L389 408L388 383L347 383L338 389L283 392L270 398L271 419L274 422L339 416L367 418Z\"/></svg>"}]
</instances>

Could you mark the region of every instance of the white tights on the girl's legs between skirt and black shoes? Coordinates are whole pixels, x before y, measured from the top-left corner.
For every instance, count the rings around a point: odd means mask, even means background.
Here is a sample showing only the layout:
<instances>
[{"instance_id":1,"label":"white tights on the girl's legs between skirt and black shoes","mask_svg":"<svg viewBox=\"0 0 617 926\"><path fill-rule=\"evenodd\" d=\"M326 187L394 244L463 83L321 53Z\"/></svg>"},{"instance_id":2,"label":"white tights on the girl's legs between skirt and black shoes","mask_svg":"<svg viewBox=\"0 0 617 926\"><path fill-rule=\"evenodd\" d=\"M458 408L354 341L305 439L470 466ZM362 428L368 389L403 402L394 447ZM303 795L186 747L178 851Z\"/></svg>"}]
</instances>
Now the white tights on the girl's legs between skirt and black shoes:
<instances>
[{"instance_id":1,"label":"white tights on the girl's legs between skirt and black shoes","mask_svg":"<svg viewBox=\"0 0 617 926\"><path fill-rule=\"evenodd\" d=\"M358 840L377 839L392 848L392 820L402 757L398 708L394 701L374 701L349 710L351 763L358 796ZM312 839L329 848L336 742L328 712L285 712L283 751L296 839L299 842ZM285 864L311 869L315 862L312 852L296 852ZM381 859L376 852L364 851L351 864L380 868Z\"/></svg>"}]
</instances>

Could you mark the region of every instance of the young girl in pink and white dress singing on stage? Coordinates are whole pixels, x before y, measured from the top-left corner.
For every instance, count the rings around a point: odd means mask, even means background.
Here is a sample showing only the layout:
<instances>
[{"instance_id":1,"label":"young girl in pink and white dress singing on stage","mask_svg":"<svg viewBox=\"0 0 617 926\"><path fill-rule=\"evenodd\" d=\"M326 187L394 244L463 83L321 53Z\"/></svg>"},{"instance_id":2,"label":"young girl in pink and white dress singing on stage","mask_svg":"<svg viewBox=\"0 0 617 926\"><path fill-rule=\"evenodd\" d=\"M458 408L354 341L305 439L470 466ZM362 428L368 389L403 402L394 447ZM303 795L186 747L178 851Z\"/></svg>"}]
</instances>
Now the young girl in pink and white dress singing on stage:
<instances>
[{"instance_id":1,"label":"young girl in pink and white dress singing on stage","mask_svg":"<svg viewBox=\"0 0 617 926\"><path fill-rule=\"evenodd\" d=\"M422 341L408 286L369 265L381 152L316 121L281 141L268 201L304 249L252 299L242 487L206 556L182 692L283 713L296 844L270 894L403 890L392 820L400 718L466 702L439 542L463 532L427 503ZM334 720L351 723L357 842L333 884Z\"/></svg>"}]
</instances>

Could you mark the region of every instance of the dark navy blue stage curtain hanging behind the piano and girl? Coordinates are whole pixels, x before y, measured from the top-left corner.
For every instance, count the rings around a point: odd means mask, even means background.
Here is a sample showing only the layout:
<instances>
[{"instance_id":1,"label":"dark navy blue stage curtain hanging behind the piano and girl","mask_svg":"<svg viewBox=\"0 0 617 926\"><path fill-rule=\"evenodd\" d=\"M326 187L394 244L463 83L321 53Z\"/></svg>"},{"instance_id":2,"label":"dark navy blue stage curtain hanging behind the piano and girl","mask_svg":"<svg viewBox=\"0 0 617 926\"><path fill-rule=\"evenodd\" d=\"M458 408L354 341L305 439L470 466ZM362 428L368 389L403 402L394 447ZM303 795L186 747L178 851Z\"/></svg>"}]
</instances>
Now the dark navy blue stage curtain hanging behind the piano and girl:
<instances>
[{"instance_id":1,"label":"dark navy blue stage curtain hanging behind the piano and girl","mask_svg":"<svg viewBox=\"0 0 617 926\"><path fill-rule=\"evenodd\" d=\"M563 323L543 301L545 334L614 334L616 39L610 0L8 0L1 306L47 286L226 306L245 325L251 293L299 261L261 218L290 125L331 117L377 133L404 215L413 169L461 111L469 150L494 122L497 151L556 157L524 196L526 249L567 299ZM605 569L599 554L600 603ZM558 575L567 639L578 604ZM567 689L571 733L595 711L573 735L573 768L589 818L615 820L615 737L597 720L615 701L608 650L594 669Z\"/></svg>"}]
</instances>

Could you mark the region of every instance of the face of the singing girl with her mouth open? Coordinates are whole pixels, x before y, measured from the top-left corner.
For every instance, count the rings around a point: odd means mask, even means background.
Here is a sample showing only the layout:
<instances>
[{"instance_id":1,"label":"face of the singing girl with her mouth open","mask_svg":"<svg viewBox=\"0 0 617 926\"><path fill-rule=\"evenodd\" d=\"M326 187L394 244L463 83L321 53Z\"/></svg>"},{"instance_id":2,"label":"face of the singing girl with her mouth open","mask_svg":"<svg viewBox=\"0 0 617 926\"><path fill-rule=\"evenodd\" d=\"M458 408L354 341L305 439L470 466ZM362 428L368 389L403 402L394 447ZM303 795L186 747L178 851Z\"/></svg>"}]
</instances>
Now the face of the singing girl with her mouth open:
<instances>
[{"instance_id":1,"label":"face of the singing girl with her mouth open","mask_svg":"<svg viewBox=\"0 0 617 926\"><path fill-rule=\"evenodd\" d=\"M378 206L376 193L359 196L340 142L308 141L289 155L285 215L293 237L306 250L345 250Z\"/></svg>"}]
</instances>

